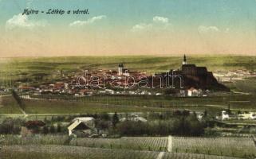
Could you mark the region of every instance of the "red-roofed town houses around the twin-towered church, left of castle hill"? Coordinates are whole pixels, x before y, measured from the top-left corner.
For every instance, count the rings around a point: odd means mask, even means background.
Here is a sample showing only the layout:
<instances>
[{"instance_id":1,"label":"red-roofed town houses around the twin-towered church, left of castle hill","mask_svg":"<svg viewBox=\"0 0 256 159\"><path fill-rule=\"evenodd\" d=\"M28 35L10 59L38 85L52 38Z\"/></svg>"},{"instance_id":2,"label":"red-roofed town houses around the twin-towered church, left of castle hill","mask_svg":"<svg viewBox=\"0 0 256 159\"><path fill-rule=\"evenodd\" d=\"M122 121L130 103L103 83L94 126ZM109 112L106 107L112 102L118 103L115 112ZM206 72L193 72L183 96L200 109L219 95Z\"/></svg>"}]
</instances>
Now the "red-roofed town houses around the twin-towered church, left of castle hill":
<instances>
[{"instance_id":1,"label":"red-roofed town houses around the twin-towered church, left of castle hill","mask_svg":"<svg viewBox=\"0 0 256 159\"><path fill-rule=\"evenodd\" d=\"M124 64L118 65L118 72L112 70L97 70L64 76L61 73L61 80L56 83L44 83L38 87L20 85L18 91L33 92L33 94L70 94L70 95L93 95L93 94L123 94L124 92L113 91L107 87L111 84L117 87L128 87L130 84L127 77L132 76L133 80L139 81L141 76L146 76L144 72L131 72L124 68ZM132 82L134 82L132 81ZM93 88L100 89L93 89ZM128 92L130 94L139 94L140 92ZM142 94L147 94L146 92Z\"/></svg>"}]
</instances>

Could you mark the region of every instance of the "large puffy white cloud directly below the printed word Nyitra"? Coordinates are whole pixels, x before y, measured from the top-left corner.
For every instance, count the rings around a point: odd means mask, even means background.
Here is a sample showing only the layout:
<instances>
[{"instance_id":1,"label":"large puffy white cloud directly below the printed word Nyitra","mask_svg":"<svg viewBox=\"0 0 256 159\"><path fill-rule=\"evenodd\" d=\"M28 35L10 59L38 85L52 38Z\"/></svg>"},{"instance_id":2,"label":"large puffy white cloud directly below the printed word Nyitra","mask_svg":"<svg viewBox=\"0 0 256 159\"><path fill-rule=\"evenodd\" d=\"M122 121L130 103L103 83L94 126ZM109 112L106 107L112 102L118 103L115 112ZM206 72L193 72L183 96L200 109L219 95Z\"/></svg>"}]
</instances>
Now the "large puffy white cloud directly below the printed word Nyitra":
<instances>
[{"instance_id":1,"label":"large puffy white cloud directly below the printed word Nyitra","mask_svg":"<svg viewBox=\"0 0 256 159\"><path fill-rule=\"evenodd\" d=\"M23 28L33 29L37 26L45 26L45 21L30 21L26 14L18 14L6 21L6 29Z\"/></svg>"}]
</instances>

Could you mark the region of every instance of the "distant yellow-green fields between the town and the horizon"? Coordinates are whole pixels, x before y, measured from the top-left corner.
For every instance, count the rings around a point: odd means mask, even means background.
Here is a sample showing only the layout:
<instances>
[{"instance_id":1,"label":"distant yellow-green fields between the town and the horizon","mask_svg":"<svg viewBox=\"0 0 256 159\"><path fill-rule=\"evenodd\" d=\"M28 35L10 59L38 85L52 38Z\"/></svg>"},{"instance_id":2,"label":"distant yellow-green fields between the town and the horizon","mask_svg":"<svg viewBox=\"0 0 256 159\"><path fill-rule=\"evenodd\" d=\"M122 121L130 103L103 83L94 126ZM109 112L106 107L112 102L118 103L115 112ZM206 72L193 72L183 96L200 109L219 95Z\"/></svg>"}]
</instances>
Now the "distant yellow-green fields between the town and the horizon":
<instances>
[{"instance_id":1,"label":"distant yellow-green fields between the town and the horizon","mask_svg":"<svg viewBox=\"0 0 256 159\"><path fill-rule=\"evenodd\" d=\"M44 80L53 80L65 74L85 69L117 69L119 63L125 68L140 72L166 72L180 68L183 56L69 56L69 57L19 57L0 59L0 80L34 79L38 74ZM187 56L189 64L207 66L209 71L256 69L256 56Z\"/></svg>"}]
</instances>

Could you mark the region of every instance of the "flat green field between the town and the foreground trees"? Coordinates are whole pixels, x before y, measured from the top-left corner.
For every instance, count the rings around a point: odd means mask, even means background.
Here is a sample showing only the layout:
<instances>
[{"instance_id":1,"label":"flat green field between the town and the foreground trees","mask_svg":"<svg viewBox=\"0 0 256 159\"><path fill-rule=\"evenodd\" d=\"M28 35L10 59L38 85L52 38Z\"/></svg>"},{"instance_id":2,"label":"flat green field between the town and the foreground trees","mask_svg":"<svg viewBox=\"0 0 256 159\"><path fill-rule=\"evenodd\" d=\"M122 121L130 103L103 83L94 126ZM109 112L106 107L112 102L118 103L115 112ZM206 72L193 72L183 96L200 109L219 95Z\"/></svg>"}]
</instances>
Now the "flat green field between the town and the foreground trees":
<instances>
[{"instance_id":1,"label":"flat green field between the town and the foreground trees","mask_svg":"<svg viewBox=\"0 0 256 159\"><path fill-rule=\"evenodd\" d=\"M0 114L22 114L13 97L1 97ZM227 95L204 98L164 96L94 96L81 99L22 99L26 114L94 114L102 112L161 112L173 110L209 111L223 109L256 111L254 95Z\"/></svg>"}]
</instances>

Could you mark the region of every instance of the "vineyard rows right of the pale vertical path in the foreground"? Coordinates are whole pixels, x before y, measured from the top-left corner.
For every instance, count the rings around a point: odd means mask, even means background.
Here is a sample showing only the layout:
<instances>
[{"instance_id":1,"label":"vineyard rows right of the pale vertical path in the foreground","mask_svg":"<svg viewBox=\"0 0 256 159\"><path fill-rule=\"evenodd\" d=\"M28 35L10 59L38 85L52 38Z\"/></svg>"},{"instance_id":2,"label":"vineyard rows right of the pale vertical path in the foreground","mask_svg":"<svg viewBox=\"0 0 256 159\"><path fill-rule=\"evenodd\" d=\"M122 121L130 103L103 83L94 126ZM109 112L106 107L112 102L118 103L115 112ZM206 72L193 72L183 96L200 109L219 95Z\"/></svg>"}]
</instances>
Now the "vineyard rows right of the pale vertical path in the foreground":
<instances>
[{"instance_id":1,"label":"vineyard rows right of the pale vertical path in the foreground","mask_svg":"<svg viewBox=\"0 0 256 159\"><path fill-rule=\"evenodd\" d=\"M256 157L252 138L185 138L172 139L173 152L203 153L230 157Z\"/></svg>"}]
</instances>

